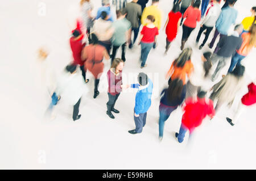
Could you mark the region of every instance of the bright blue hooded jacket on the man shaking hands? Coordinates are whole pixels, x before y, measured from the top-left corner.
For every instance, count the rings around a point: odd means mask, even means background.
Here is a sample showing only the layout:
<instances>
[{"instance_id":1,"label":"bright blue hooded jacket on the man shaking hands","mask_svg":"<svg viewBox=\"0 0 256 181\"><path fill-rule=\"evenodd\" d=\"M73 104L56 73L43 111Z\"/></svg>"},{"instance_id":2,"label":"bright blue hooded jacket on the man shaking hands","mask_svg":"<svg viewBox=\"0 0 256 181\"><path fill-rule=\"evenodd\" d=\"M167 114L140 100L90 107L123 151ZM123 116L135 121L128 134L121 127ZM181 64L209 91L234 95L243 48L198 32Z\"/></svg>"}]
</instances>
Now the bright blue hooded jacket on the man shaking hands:
<instances>
[{"instance_id":1,"label":"bright blue hooded jacket on the man shaking hands","mask_svg":"<svg viewBox=\"0 0 256 181\"><path fill-rule=\"evenodd\" d=\"M148 79L146 86L140 86L139 84L132 84L131 88L139 89L135 97L134 112L139 115L145 113L151 106L151 96L153 90L153 83Z\"/></svg>"}]
</instances>

